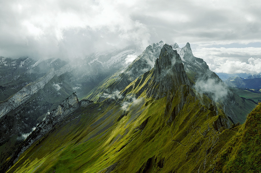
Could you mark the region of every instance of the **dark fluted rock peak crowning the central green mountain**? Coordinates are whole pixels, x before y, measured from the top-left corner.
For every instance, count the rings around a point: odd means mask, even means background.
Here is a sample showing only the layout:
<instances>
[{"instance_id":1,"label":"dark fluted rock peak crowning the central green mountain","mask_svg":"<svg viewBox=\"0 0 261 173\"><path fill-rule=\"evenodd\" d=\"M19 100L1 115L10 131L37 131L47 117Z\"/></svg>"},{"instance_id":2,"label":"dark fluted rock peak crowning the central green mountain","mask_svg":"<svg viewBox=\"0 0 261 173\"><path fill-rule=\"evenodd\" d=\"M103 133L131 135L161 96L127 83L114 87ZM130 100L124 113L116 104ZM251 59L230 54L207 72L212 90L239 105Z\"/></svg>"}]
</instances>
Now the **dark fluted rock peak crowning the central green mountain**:
<instances>
[{"instance_id":1,"label":"dark fluted rock peak crowning the central green mountain","mask_svg":"<svg viewBox=\"0 0 261 173\"><path fill-rule=\"evenodd\" d=\"M147 96L161 98L168 91L175 93L181 85L190 85L182 60L176 50L164 44L154 65L154 80L148 87Z\"/></svg>"}]
</instances>

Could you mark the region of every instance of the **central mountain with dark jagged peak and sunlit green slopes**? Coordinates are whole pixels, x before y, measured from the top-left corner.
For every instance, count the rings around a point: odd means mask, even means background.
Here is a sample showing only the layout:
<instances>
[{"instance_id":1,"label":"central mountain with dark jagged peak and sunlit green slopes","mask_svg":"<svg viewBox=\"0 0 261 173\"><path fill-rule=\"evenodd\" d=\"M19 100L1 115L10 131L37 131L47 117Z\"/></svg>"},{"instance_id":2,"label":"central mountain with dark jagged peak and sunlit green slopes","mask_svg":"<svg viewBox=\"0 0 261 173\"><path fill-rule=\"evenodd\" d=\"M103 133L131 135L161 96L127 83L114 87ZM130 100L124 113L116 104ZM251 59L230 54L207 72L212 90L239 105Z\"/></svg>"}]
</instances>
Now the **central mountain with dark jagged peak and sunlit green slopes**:
<instances>
[{"instance_id":1,"label":"central mountain with dark jagged peak and sunlit green slopes","mask_svg":"<svg viewBox=\"0 0 261 173\"><path fill-rule=\"evenodd\" d=\"M71 103L63 106L69 111L54 123L55 112L61 109L50 113L2 170L15 162L8 172L203 171L206 158L213 162L218 153L206 147L212 143L209 139L215 141L216 133L232 126L219 105L210 99L208 107L200 104L179 54L167 44L154 68L131 82L119 97L78 108L75 95L64 102ZM206 151L211 154L205 159L192 159Z\"/></svg>"}]
</instances>

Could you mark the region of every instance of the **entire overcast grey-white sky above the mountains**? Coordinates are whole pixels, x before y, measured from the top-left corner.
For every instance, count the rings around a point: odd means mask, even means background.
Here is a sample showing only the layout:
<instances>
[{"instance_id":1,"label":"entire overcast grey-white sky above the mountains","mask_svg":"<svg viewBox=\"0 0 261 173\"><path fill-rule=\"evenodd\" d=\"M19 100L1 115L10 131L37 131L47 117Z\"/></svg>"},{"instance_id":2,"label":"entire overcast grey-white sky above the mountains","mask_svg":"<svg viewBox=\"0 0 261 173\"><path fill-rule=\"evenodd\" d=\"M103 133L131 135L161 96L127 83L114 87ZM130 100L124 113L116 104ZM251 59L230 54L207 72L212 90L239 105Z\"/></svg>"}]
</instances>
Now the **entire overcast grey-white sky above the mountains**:
<instances>
[{"instance_id":1,"label":"entire overcast grey-white sky above the mountains","mask_svg":"<svg viewBox=\"0 0 261 173\"><path fill-rule=\"evenodd\" d=\"M190 42L215 72L261 72L261 3L233 0L0 0L0 56L75 58Z\"/></svg>"}]
</instances>

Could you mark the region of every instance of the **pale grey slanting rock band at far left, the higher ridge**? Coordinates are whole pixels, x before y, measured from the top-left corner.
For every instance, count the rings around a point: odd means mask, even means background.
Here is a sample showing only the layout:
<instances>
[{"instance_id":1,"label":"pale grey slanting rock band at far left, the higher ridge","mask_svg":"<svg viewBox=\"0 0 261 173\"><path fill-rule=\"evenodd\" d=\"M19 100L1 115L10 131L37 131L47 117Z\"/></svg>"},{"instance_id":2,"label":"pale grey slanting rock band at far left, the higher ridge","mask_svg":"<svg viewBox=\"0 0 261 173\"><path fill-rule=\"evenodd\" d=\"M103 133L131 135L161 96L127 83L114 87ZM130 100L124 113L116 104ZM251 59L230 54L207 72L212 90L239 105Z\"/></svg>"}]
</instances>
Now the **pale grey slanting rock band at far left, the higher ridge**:
<instances>
[{"instance_id":1,"label":"pale grey slanting rock band at far left, the higher ridge","mask_svg":"<svg viewBox=\"0 0 261 173\"><path fill-rule=\"evenodd\" d=\"M37 82L33 82L23 87L20 91L15 93L11 98L7 101L1 103L0 105L0 118L3 117L9 111L15 109L22 103L24 103L27 99L29 99L34 93L42 89L45 84L47 84L55 75L55 71L52 68L45 76L39 79Z\"/></svg>"}]
</instances>

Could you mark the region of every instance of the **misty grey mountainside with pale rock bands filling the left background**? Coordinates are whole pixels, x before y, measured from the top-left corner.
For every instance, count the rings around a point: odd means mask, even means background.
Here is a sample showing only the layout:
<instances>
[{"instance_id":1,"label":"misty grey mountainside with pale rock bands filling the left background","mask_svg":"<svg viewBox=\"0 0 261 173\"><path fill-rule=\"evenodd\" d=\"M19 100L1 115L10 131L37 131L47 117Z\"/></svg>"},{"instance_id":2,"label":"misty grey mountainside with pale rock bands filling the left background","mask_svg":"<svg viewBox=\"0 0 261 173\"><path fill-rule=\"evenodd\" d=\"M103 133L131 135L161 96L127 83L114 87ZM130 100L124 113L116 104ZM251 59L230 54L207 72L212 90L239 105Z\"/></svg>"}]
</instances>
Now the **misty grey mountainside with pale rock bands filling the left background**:
<instances>
[{"instance_id":1,"label":"misty grey mountainside with pale rock bands filling the left background","mask_svg":"<svg viewBox=\"0 0 261 173\"><path fill-rule=\"evenodd\" d=\"M1 57L0 164L72 92L86 95L104 78L128 66L126 58L134 53L133 47L126 47L71 62Z\"/></svg>"}]
</instances>

